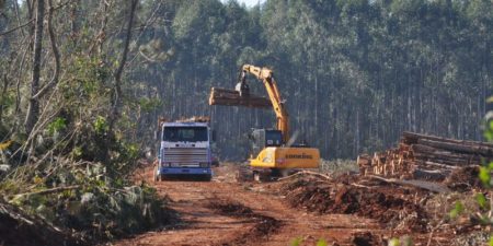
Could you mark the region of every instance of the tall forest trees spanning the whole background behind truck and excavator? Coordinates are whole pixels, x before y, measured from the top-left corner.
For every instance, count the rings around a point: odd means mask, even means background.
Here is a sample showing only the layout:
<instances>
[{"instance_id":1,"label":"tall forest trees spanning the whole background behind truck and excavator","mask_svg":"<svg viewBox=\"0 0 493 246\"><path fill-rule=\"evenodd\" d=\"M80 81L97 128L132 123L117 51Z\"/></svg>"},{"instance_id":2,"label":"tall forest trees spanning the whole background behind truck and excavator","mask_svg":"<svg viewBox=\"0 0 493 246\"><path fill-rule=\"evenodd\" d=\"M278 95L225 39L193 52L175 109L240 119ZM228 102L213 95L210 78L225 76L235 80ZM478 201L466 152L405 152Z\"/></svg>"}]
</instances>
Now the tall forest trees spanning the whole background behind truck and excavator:
<instances>
[{"instance_id":1,"label":"tall forest trees spanning the whole background behind truck and excavator","mask_svg":"<svg viewBox=\"0 0 493 246\"><path fill-rule=\"evenodd\" d=\"M41 24L33 2L1 1L3 141L34 144L32 132L46 140L79 127L153 150L159 116L210 115L218 155L244 160L246 132L273 128L273 112L207 105L210 87L232 89L243 63L274 70L298 141L325 159L381 150L403 130L482 138L489 0L50 0ZM117 147L87 139L57 148L114 160L99 149Z\"/></svg>"}]
</instances>

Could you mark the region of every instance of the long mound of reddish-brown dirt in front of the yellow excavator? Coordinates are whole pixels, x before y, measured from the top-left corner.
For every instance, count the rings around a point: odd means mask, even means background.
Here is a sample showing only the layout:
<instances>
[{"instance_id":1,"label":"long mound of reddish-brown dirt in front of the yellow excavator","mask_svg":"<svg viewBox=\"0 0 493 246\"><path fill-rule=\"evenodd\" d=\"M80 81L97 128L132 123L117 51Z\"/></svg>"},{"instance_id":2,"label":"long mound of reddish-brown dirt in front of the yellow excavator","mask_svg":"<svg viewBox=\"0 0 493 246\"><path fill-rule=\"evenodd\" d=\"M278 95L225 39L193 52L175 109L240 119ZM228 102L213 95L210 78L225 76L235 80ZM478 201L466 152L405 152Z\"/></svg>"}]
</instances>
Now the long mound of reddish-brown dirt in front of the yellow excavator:
<instances>
[{"instance_id":1,"label":"long mound of reddish-brown dirt in front of the yellow excavator","mask_svg":"<svg viewBox=\"0 0 493 246\"><path fill-rule=\"evenodd\" d=\"M301 178L285 186L282 192L293 207L320 213L357 214L371 218L389 227L405 221L403 229L426 231L427 214L413 203L412 195L400 196L389 187L368 188ZM405 199L409 197L409 199Z\"/></svg>"}]
</instances>

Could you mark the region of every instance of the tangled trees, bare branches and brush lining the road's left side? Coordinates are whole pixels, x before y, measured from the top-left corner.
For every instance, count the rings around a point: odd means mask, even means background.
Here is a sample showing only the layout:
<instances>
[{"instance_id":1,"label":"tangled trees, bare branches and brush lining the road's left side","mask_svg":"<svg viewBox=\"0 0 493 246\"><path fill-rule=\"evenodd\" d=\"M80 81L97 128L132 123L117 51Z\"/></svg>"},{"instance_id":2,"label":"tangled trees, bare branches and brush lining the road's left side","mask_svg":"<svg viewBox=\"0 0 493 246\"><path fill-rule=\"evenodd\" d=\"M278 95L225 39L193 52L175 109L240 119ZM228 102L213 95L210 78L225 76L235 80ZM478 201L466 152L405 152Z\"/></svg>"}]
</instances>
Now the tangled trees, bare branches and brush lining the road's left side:
<instances>
[{"instance_id":1,"label":"tangled trees, bare branches and brush lining the road's left side","mask_svg":"<svg viewBox=\"0 0 493 246\"><path fill-rule=\"evenodd\" d=\"M0 1L0 216L12 221L0 244L95 244L168 222L165 201L131 180L135 112L154 106L124 95L137 2ZM116 27L119 45L99 36Z\"/></svg>"}]
</instances>

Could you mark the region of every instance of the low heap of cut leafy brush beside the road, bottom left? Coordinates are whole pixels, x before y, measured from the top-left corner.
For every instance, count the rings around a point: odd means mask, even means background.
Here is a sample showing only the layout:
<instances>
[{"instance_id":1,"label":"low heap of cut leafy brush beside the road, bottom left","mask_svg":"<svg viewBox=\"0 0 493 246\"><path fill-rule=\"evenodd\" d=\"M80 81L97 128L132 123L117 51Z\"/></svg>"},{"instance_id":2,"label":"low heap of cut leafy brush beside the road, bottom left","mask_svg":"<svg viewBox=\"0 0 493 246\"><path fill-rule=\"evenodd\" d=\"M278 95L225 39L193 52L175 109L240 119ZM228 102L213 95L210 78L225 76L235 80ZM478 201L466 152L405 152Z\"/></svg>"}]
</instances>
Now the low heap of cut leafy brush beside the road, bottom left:
<instances>
[{"instance_id":1,"label":"low heap of cut leafy brush beside the road, bottom left","mask_svg":"<svg viewBox=\"0 0 493 246\"><path fill-rule=\"evenodd\" d=\"M33 172L38 173L27 173ZM111 178L101 164L90 163L83 167L64 160L51 174L35 175L30 183L28 191L19 195L19 188L11 185L13 180L5 179L0 183L0 190L10 198L10 203L55 225L81 231L92 239L128 235L163 223L163 201L156 189ZM71 186L74 188L38 192Z\"/></svg>"}]
</instances>

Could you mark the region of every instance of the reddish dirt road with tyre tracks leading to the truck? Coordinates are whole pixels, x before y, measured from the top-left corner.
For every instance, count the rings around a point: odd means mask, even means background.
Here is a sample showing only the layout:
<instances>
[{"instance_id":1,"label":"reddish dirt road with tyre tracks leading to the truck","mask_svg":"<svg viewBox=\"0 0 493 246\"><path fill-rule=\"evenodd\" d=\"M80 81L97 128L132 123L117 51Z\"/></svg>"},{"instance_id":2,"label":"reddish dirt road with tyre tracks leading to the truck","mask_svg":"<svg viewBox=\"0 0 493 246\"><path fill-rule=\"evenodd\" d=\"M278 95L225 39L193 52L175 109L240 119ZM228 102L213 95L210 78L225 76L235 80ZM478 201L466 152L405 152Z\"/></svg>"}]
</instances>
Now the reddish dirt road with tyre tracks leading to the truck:
<instances>
[{"instance_id":1,"label":"reddish dirt road with tyre tracks leading to the truck","mask_svg":"<svg viewBox=\"0 0 493 246\"><path fill-rule=\"evenodd\" d=\"M302 238L314 245L353 245L358 232L379 233L376 222L355 215L318 215L289 207L280 195L270 192L275 184L237 183L234 167L216 169L213 181L154 183L181 222L170 229L149 232L116 245L289 245ZM151 171L140 178L151 181Z\"/></svg>"}]
</instances>

